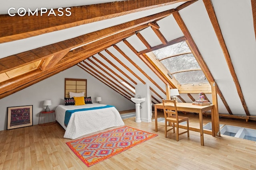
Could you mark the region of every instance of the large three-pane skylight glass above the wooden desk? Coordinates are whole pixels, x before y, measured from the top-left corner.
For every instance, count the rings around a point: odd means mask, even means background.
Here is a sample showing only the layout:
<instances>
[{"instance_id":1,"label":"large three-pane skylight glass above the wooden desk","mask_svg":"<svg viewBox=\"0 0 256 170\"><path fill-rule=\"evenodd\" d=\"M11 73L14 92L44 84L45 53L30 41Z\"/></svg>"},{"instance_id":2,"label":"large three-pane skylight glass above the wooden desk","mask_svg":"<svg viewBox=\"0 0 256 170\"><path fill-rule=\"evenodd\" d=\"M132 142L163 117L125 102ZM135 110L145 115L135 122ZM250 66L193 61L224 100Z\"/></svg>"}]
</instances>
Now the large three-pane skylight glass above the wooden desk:
<instances>
[{"instance_id":1,"label":"large three-pane skylight glass above the wooden desk","mask_svg":"<svg viewBox=\"0 0 256 170\"><path fill-rule=\"evenodd\" d=\"M186 41L153 51L180 84L208 83Z\"/></svg>"}]
</instances>

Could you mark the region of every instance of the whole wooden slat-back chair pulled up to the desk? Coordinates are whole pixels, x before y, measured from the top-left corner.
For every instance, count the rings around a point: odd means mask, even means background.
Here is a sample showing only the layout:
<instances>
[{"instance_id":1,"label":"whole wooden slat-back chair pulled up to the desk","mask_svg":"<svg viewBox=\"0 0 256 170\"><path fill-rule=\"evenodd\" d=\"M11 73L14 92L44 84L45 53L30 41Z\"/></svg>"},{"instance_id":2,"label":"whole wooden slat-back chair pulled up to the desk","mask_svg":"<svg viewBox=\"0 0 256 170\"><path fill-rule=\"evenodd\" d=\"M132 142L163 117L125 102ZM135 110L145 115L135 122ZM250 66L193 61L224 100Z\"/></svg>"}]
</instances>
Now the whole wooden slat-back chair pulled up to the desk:
<instances>
[{"instance_id":1,"label":"whole wooden slat-back chair pulled up to the desk","mask_svg":"<svg viewBox=\"0 0 256 170\"><path fill-rule=\"evenodd\" d=\"M176 101L175 100L162 100L163 106L164 106L164 118L165 118L165 137L167 137L167 132L173 129L173 133L175 133L175 126L176 126L176 141L179 141L179 135L182 135L184 133L188 133L189 137L189 125L188 125L188 117L179 116L177 107L176 107ZM173 103L172 106L168 103ZM179 133L179 123L187 121L187 130ZM172 123L172 127L170 129L167 129L167 122Z\"/></svg>"}]
</instances>

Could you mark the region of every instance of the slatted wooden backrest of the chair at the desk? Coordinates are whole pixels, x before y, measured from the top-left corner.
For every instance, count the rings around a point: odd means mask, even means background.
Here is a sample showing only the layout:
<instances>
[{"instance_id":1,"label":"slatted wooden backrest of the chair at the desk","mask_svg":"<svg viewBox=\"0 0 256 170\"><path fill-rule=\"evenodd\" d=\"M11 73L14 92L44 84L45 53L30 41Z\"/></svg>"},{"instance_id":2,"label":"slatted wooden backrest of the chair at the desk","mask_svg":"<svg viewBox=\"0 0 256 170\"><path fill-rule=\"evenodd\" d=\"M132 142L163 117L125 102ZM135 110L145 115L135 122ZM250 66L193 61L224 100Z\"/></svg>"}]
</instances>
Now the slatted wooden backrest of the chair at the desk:
<instances>
[{"instance_id":1,"label":"slatted wooden backrest of the chair at the desk","mask_svg":"<svg viewBox=\"0 0 256 170\"><path fill-rule=\"evenodd\" d=\"M170 115L176 115L176 119L178 120L178 111L176 106L176 100L162 100L164 106L164 117L165 119Z\"/></svg>"}]
</instances>

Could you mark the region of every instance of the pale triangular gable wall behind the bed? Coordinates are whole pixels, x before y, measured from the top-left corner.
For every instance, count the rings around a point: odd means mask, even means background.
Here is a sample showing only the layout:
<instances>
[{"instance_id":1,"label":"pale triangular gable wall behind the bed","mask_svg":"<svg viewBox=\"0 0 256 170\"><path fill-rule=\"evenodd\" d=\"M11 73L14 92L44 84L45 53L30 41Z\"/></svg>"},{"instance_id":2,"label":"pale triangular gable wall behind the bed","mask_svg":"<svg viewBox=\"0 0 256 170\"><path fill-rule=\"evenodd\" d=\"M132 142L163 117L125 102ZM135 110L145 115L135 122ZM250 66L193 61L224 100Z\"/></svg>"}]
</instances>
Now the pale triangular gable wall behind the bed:
<instances>
[{"instance_id":1,"label":"pale triangular gable wall behind the bed","mask_svg":"<svg viewBox=\"0 0 256 170\"><path fill-rule=\"evenodd\" d=\"M115 106L118 111L135 109L133 102L130 102L130 100L127 100L78 66L73 66L0 99L0 131L7 127L7 107L33 105L33 125L37 125L39 113L44 110L44 100L52 100L52 106L49 106L50 109L55 109L59 104L64 104L65 78L87 79L87 96L92 97L92 102L96 102L96 97L101 96L101 104Z\"/></svg>"}]
</instances>

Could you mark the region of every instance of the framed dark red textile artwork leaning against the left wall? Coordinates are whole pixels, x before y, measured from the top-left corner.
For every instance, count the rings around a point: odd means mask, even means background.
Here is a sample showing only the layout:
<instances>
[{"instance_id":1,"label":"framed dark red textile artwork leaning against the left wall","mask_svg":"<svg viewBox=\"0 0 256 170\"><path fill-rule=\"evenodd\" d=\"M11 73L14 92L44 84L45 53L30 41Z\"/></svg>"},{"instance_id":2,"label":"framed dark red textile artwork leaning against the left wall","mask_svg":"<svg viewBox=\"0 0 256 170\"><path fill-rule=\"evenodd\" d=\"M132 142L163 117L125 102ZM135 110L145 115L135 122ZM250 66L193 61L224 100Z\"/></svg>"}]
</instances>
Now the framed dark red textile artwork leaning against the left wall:
<instances>
[{"instance_id":1,"label":"framed dark red textile artwork leaning against the left wall","mask_svg":"<svg viewBox=\"0 0 256 170\"><path fill-rule=\"evenodd\" d=\"M33 106L7 107L7 129L33 125Z\"/></svg>"}]
</instances>

